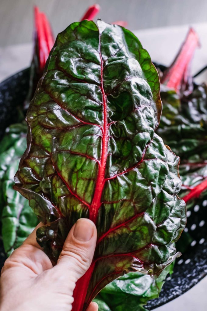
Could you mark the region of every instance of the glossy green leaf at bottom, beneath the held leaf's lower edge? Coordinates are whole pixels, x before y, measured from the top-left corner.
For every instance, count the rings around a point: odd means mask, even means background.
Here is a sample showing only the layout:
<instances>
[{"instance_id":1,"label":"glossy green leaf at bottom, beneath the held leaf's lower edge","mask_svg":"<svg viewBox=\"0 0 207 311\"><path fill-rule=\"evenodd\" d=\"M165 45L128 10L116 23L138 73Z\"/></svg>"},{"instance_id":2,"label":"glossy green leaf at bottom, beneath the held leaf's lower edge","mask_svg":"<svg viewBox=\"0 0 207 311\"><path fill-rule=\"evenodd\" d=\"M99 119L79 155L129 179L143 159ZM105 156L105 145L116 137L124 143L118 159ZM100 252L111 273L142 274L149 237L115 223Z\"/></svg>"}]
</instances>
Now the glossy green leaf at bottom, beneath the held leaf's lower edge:
<instances>
[{"instance_id":1,"label":"glossy green leaf at bottom, beneath the held leaf's lower edge","mask_svg":"<svg viewBox=\"0 0 207 311\"><path fill-rule=\"evenodd\" d=\"M140 272L130 272L106 285L94 301L103 310L106 306L113 311L142 310L148 300L159 296L167 274L173 272L173 266L174 262L165 267L157 279Z\"/></svg>"}]
</instances>

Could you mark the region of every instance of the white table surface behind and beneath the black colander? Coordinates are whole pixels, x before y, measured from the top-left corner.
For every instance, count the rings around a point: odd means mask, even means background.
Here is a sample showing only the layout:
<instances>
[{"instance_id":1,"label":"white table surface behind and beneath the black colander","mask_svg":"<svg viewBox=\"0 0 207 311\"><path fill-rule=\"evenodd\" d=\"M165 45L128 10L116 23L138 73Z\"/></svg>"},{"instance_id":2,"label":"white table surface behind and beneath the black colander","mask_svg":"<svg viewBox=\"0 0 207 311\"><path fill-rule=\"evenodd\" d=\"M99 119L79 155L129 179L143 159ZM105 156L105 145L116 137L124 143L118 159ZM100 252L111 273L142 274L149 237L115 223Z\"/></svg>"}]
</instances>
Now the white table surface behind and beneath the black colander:
<instances>
[{"instance_id":1,"label":"white table surface behind and beneath the black colander","mask_svg":"<svg viewBox=\"0 0 207 311\"><path fill-rule=\"evenodd\" d=\"M207 65L207 23L194 24L193 28L200 37L201 48L196 50L192 63L192 73ZM189 25L165 28L154 28L133 31L158 63L169 65L184 40ZM11 74L29 66L32 55L32 44L20 44L0 48L0 81ZM207 82L207 71L200 75L198 82ZM157 308L156 311L206 311L207 310L207 277L184 295ZM128 310L127 310L128 311Z\"/></svg>"}]
</instances>

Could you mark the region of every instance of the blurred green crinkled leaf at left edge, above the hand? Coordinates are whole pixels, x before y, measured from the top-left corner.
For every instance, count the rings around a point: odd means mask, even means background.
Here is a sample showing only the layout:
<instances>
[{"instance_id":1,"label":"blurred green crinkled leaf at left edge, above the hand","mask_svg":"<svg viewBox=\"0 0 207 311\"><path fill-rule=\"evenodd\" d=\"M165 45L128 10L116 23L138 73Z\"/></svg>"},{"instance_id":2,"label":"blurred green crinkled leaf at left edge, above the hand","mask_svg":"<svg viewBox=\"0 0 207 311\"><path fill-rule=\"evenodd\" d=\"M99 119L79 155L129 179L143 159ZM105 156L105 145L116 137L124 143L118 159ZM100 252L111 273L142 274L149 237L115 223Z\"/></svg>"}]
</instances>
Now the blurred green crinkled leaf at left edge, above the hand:
<instances>
[{"instance_id":1,"label":"blurred green crinkled leaf at left edge, above the hand","mask_svg":"<svg viewBox=\"0 0 207 311\"><path fill-rule=\"evenodd\" d=\"M7 256L22 244L38 223L28 200L13 189L14 174L26 147L26 132L26 124L13 124L0 143L2 239Z\"/></svg>"}]
</instances>

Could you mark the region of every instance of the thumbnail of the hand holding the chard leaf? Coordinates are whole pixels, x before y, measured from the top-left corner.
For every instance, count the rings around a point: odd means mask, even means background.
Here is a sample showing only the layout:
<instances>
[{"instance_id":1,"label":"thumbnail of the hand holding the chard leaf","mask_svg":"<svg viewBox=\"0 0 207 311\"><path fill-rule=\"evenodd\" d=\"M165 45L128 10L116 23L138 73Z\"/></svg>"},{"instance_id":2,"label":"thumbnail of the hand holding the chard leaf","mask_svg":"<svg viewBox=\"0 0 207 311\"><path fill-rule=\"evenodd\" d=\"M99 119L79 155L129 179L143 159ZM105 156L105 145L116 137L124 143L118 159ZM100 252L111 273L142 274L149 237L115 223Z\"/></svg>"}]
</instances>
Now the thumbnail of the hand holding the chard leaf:
<instances>
[{"instance_id":1,"label":"thumbnail of the hand holding the chard leaf","mask_svg":"<svg viewBox=\"0 0 207 311\"><path fill-rule=\"evenodd\" d=\"M79 241L89 241L93 235L94 225L92 221L81 218L76 222L74 237Z\"/></svg>"}]
</instances>

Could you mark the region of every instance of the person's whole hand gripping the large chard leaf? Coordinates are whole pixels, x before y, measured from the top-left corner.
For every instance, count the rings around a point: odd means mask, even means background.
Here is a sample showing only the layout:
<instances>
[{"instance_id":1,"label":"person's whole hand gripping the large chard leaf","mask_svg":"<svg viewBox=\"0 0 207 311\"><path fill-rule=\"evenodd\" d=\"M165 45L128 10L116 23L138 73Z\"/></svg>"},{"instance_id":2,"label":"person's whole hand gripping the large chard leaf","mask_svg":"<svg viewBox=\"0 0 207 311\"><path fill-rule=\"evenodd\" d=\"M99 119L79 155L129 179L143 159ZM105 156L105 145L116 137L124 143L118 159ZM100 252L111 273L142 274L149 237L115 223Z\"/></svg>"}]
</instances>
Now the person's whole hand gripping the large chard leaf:
<instances>
[{"instance_id":1,"label":"person's whole hand gripping the large chard leaf","mask_svg":"<svg viewBox=\"0 0 207 311\"><path fill-rule=\"evenodd\" d=\"M36 242L36 230L6 260L0 278L0 311L70 311L76 281L88 270L97 239L89 219L70 230L57 265ZM97 311L91 303L87 311Z\"/></svg>"}]
</instances>

